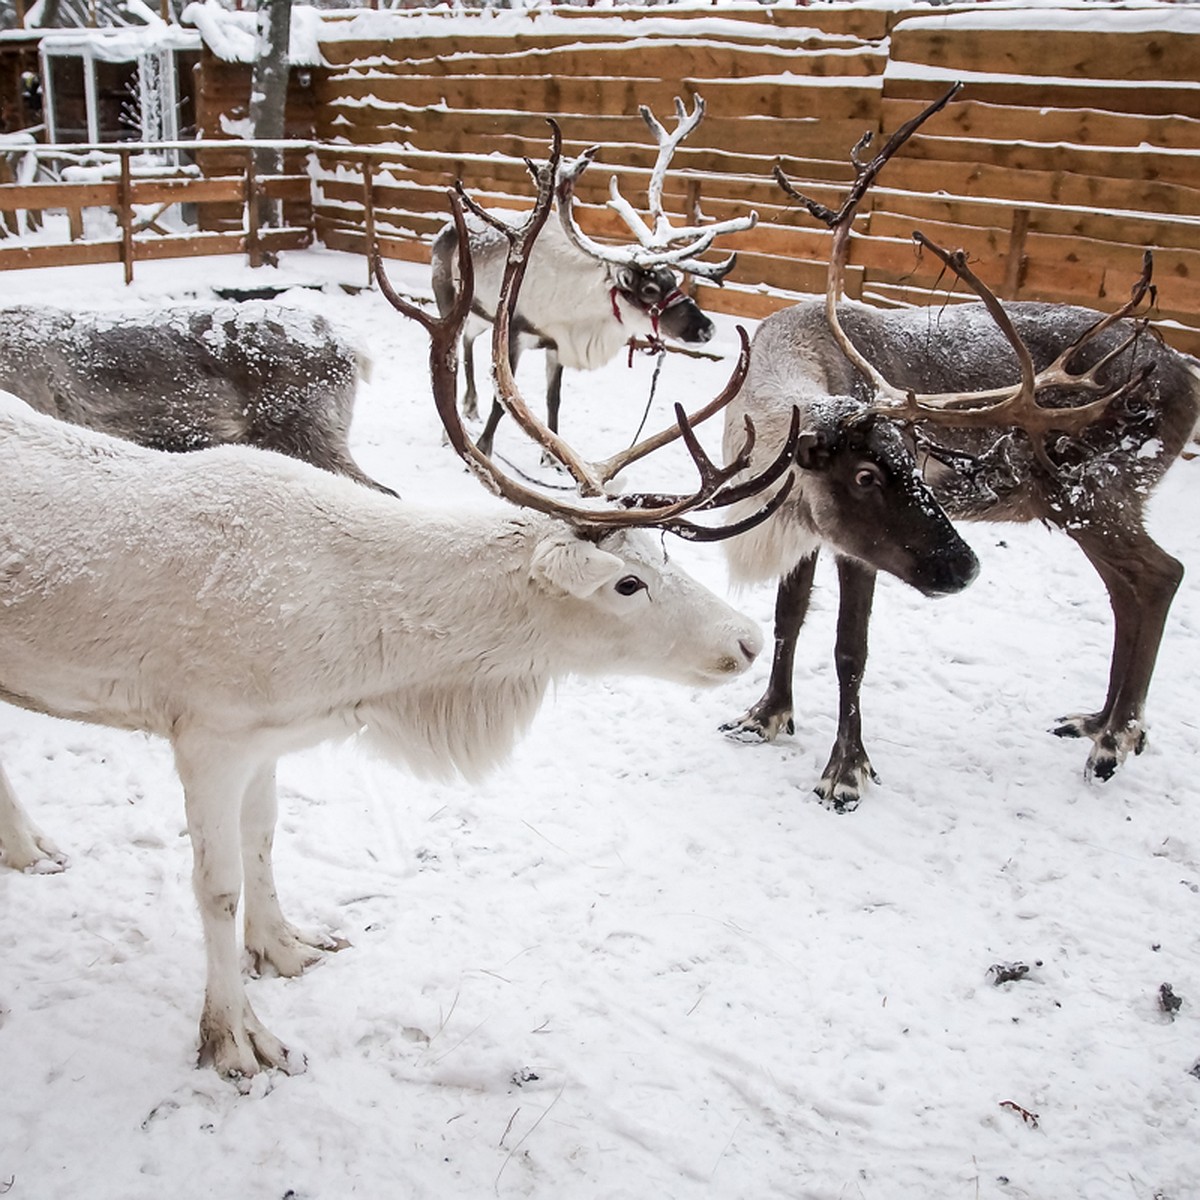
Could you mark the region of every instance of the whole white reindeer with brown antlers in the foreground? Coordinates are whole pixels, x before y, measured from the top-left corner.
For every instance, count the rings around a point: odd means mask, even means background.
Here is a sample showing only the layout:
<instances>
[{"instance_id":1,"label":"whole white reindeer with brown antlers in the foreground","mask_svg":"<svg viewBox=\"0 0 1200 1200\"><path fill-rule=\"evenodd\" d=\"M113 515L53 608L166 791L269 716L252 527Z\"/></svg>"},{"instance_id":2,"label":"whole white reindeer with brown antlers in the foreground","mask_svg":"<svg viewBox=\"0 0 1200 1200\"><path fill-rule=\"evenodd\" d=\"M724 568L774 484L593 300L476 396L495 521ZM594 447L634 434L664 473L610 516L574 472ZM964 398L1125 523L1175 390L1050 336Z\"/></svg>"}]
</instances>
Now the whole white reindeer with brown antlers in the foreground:
<instances>
[{"instance_id":1,"label":"whole white reindeer with brown antlers in the foreground","mask_svg":"<svg viewBox=\"0 0 1200 1200\"><path fill-rule=\"evenodd\" d=\"M253 960L294 976L335 944L301 934L276 895L280 755L361 731L418 774L475 778L509 752L557 678L706 686L745 671L762 646L752 622L644 532L724 535L685 515L743 494L726 482L749 444L718 469L682 419L700 488L619 508L505 479L456 413L469 262L463 277L446 320L414 313L433 338L434 398L451 443L522 511L422 509L241 446L167 455L0 398L0 698L170 742L208 956L199 1057L228 1076L302 1064L246 996L242 889ZM754 486L792 454L794 443ZM12 865L53 852L7 782L0 838Z\"/></svg>"}]
</instances>

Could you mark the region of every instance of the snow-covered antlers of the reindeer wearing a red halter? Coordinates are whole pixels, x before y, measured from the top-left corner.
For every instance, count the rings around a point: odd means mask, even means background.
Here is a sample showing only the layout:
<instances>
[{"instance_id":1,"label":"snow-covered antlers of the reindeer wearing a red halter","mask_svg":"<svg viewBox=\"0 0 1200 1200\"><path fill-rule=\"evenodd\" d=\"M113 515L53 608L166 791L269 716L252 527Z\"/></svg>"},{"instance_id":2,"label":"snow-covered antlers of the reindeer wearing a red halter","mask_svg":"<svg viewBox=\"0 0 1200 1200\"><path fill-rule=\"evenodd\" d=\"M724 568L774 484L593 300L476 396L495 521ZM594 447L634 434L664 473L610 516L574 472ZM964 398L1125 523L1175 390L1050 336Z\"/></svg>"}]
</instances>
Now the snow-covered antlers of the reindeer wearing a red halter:
<instances>
[{"instance_id":1,"label":"snow-covered antlers of the reindeer wearing a red halter","mask_svg":"<svg viewBox=\"0 0 1200 1200\"><path fill-rule=\"evenodd\" d=\"M654 134L659 146L647 188L650 221L644 222L638 216L637 210L620 194L616 175L608 181L608 208L629 226L630 232L637 239L637 245L605 246L593 241L575 221L575 185L583 172L592 166L599 152L599 146L589 146L578 158L565 164L559 174L558 216L563 223L563 230L576 250L590 254L593 258L599 258L601 262L618 263L624 266L677 266L680 271L688 271L701 278L720 283L733 270L737 254L730 254L720 263L702 262L700 256L721 234L752 228L758 220L758 214L751 212L744 217L731 217L728 221L718 221L714 224L676 227L671 224L662 206L662 185L666 180L667 167L679 143L703 120L704 101L697 96L695 107L689 113L684 102L677 97L676 127L672 133L666 131L646 104L638 107L638 113Z\"/></svg>"}]
</instances>

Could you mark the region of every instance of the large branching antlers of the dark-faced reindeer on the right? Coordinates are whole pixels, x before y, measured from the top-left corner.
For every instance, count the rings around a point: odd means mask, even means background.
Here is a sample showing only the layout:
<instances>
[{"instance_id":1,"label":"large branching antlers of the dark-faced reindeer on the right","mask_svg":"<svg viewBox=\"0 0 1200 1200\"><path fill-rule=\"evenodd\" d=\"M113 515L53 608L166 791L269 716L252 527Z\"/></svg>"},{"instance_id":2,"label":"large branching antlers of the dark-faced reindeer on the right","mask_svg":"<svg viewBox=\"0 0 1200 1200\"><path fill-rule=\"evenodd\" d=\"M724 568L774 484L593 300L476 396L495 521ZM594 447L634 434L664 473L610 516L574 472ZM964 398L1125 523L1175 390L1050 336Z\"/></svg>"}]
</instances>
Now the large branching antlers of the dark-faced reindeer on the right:
<instances>
[{"instance_id":1,"label":"large branching antlers of the dark-faced reindeer on the right","mask_svg":"<svg viewBox=\"0 0 1200 1200\"><path fill-rule=\"evenodd\" d=\"M930 238L920 233L920 230L916 230L912 235L913 240L940 258L947 268L954 271L979 296L992 320L996 322L997 328L1013 347L1018 364L1020 365L1020 379L1018 383L1006 388L994 388L976 392L924 395L917 395L911 390L896 388L859 353L858 347L850 340L850 336L838 319L838 301L841 299L842 293L851 226L853 224L858 205L888 160L930 116L944 108L961 89L962 84L954 84L940 100L901 125L888 139L883 150L869 163L864 164L859 158L859 154L870 143L871 138L870 133L865 134L851 151L851 161L854 166L856 175L854 184L836 212L798 192L778 166L774 174L779 185L792 199L803 204L809 212L833 230L833 246L830 247L829 270L826 280L826 317L842 354L874 386L876 401L872 404L872 409L906 421L919 420L956 426L1015 425L1031 436L1039 460L1048 463L1040 440L1044 434L1051 431L1079 433L1100 416L1114 401L1135 391L1153 371L1153 365L1146 364L1132 372L1129 378L1123 382L1104 384L1099 379L1104 367L1120 358L1138 340L1146 325L1145 319L1136 322L1134 331L1120 346L1104 354L1086 371L1072 370L1072 362L1087 342L1096 338L1116 322L1130 317L1138 310L1147 293L1151 296L1151 302L1153 302L1154 288L1150 282L1153 271L1153 256L1148 250L1142 258L1141 277L1134 284L1129 300L1120 310L1103 317L1086 329L1054 362L1042 371L1036 372L1028 347L1016 332L1008 313L1004 311L1004 306L996 298L995 293L967 265L966 253L961 250L954 252L943 250ZM1038 392L1050 388L1069 389L1091 395L1094 398L1064 407L1040 404L1037 398Z\"/></svg>"}]
</instances>

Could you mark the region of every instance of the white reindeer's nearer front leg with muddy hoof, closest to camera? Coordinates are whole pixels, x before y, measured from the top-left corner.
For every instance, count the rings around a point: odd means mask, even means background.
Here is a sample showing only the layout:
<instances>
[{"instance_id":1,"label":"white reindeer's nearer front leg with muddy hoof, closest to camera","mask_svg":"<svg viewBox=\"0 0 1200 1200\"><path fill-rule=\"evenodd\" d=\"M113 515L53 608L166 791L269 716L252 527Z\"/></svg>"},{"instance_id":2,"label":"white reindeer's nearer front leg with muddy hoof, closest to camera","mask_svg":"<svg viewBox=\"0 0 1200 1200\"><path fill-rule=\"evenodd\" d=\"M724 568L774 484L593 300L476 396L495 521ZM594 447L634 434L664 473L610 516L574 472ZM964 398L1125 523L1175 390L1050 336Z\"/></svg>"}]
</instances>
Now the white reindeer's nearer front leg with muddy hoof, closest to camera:
<instances>
[{"instance_id":1,"label":"white reindeer's nearer front leg with muddy hoof, closest to camera","mask_svg":"<svg viewBox=\"0 0 1200 1200\"><path fill-rule=\"evenodd\" d=\"M234 922L241 892L241 808L256 778L253 756L228 738L188 732L175 740L175 766L184 784L192 886L208 959L200 1066L234 1080L264 1066L301 1070L304 1058L259 1021L241 980Z\"/></svg>"}]
</instances>

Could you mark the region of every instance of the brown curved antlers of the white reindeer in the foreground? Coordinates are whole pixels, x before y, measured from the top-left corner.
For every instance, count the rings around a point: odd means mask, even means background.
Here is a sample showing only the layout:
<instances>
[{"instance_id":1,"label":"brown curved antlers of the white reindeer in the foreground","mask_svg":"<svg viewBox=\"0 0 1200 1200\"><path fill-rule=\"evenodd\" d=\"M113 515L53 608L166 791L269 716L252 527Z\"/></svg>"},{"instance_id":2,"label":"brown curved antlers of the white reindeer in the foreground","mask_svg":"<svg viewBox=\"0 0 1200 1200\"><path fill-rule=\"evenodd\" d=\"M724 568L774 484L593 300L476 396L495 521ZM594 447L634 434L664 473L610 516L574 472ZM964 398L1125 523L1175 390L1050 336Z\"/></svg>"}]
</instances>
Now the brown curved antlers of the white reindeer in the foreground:
<instances>
[{"instance_id":1,"label":"brown curved antlers of the white reindeer in the foreground","mask_svg":"<svg viewBox=\"0 0 1200 1200\"><path fill-rule=\"evenodd\" d=\"M640 454L632 457L641 457L655 449L659 444L665 444L672 437L683 437L700 472L700 486L695 492L683 496L664 496L658 493L635 493L623 496L617 499L619 506L613 506L611 498L605 496L604 482L611 479L616 470L605 473L608 464L595 464L584 462L558 434L553 433L544 422L533 415L524 403L512 377L512 368L509 361L509 326L514 307L516 305L517 292L524 275L529 258L529 251L534 240L550 216L553 202L553 182L558 172L558 163L562 154L562 136L558 126L551 121L552 150L547 163L538 168L538 202L528 218L520 226L509 226L500 222L498 228L509 239L509 254L504 271L504 282L500 288L500 298L497 305L497 313L493 329L493 370L496 374L496 389L500 402L510 415L521 425L523 430L551 455L553 455L563 467L571 474L581 493L584 497L605 497L608 503L605 506L588 506L582 504L566 503L545 492L528 486L518 479L504 474L487 455L482 454L475 443L467 436L458 415L456 403L456 377L457 377L457 342L462 325L470 312L470 302L474 288L474 271L470 264L468 246L467 222L463 215L464 206L473 212L480 212L479 206L470 200L457 186L456 191L449 194L450 209L458 239L458 276L460 290L450 311L442 318L431 317L415 305L409 304L398 296L391 288L384 274L383 263L377 262L376 275L379 287L389 302L414 320L420 322L430 335L430 373L433 384L433 400L445 426L450 444L460 457L468 464L472 472L481 482L497 496L518 504L523 508L534 509L559 516L577 526L593 529L614 529L622 527L654 527L667 529L680 536L692 540L716 540L719 538L732 536L745 529L752 528L760 521L764 521L782 503L791 488L792 476L785 480L784 485L775 492L768 503L752 514L745 521L733 526L707 527L698 526L685 520L685 515L694 510L704 510L725 504L732 504L748 494L754 494L769 487L781 475L784 475L796 456L796 446L799 437L798 415L793 420L793 432L788 443L774 462L751 480L743 484L730 484L730 480L740 474L749 464L750 454L754 448L754 425L746 421L746 437L740 452L725 467L715 466L703 449L700 446L692 430L692 421L688 418L680 406L676 406L676 432L656 434L640 443ZM745 332L742 331L743 353L734 368L733 377L726 385L718 401L706 406L703 416L709 416L719 407L736 395L745 377L749 366L749 350ZM655 443L655 445L649 445ZM632 461L629 457L618 456L625 462ZM612 462L612 460L610 460ZM619 469L619 468L618 468Z\"/></svg>"}]
</instances>

